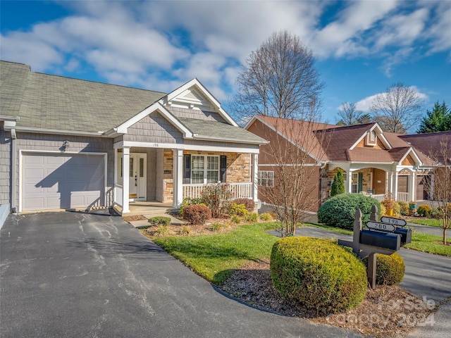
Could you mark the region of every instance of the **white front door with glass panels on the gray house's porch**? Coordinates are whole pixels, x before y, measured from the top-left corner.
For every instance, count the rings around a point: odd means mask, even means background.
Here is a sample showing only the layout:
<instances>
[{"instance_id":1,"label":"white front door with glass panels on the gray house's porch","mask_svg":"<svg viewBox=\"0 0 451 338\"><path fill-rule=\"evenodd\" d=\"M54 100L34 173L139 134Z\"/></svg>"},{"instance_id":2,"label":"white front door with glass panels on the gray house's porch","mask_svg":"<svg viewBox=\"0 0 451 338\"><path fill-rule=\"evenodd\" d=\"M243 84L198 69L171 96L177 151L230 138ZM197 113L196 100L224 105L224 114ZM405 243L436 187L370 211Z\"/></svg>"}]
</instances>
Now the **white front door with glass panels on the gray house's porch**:
<instances>
[{"instance_id":1,"label":"white front door with glass panels on the gray house's porch","mask_svg":"<svg viewBox=\"0 0 451 338\"><path fill-rule=\"evenodd\" d=\"M130 201L147 199L147 154L130 154Z\"/></svg>"}]
</instances>

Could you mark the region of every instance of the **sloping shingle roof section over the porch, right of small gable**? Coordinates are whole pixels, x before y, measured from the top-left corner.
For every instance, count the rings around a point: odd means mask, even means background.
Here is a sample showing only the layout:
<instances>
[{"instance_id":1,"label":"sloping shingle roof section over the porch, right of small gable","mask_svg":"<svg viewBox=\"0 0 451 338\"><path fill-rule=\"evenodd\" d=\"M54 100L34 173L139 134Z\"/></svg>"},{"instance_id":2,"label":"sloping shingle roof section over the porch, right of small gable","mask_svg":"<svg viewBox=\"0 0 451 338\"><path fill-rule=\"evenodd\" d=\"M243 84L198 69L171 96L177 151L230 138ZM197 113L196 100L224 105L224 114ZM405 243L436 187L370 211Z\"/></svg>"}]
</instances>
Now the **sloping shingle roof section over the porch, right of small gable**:
<instances>
[{"instance_id":1,"label":"sloping shingle roof section over the porch, right of small gable","mask_svg":"<svg viewBox=\"0 0 451 338\"><path fill-rule=\"evenodd\" d=\"M214 120L197 120L194 118L178 118L185 127L187 127L194 137L206 137L211 139L224 139L229 141L242 141L253 143L266 143L264 139L242 129L241 127L234 127L228 123L221 123Z\"/></svg>"}]
</instances>

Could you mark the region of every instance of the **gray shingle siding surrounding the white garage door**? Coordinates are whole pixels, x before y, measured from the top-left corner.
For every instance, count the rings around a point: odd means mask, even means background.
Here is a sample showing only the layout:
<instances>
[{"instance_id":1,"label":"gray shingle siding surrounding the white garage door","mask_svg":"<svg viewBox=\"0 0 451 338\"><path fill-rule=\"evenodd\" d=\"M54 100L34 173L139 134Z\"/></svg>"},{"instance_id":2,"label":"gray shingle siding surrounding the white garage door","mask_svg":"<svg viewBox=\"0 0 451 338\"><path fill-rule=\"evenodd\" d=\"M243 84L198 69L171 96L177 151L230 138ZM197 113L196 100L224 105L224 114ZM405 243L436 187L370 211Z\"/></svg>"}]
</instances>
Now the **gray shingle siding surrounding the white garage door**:
<instances>
[{"instance_id":1,"label":"gray shingle siding surrounding the white garage door","mask_svg":"<svg viewBox=\"0 0 451 338\"><path fill-rule=\"evenodd\" d=\"M69 141L67 153L106 153L106 205L111 205L113 201L113 183L114 183L114 151L113 139L99 137L80 137L58 134L35 134L27 132L17 132L17 168L16 173L20 175L18 168L20 151L48 151L49 154L63 154L60 150L63 141ZM23 153L24 154L24 153ZM25 153L26 154L26 153ZM18 205L19 199L19 182L16 182L16 196L13 198Z\"/></svg>"}]
</instances>

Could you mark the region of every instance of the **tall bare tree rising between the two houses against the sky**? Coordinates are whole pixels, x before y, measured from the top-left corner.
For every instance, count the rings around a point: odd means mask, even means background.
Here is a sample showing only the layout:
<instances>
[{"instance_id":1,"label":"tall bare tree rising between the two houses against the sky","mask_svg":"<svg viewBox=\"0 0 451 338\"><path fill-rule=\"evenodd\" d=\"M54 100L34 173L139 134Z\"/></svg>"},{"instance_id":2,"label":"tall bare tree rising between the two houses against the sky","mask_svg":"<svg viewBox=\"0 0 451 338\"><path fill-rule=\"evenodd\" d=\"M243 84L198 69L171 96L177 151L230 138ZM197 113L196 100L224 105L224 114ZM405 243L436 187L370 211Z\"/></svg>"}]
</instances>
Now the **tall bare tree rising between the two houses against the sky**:
<instances>
[{"instance_id":1,"label":"tall bare tree rising between the two houses against the sky","mask_svg":"<svg viewBox=\"0 0 451 338\"><path fill-rule=\"evenodd\" d=\"M312 113L312 105L320 106L324 87L311 50L286 30L273 33L252 51L236 83L237 120L256 114L304 118Z\"/></svg>"}]
</instances>

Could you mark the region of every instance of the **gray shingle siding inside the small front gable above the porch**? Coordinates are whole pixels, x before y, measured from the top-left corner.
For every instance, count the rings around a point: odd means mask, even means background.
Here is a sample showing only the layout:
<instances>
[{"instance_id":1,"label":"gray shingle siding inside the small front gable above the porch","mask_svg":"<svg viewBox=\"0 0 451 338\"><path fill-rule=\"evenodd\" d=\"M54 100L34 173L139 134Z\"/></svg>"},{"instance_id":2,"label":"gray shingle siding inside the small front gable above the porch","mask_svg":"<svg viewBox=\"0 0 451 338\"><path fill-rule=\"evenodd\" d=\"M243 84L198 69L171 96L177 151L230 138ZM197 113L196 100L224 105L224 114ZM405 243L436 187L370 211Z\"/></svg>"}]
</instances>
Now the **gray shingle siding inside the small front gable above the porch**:
<instances>
[{"instance_id":1,"label":"gray shingle siding inside the small front gable above the porch","mask_svg":"<svg viewBox=\"0 0 451 338\"><path fill-rule=\"evenodd\" d=\"M158 112L128 127L127 132L124 134L125 141L183 143L182 133Z\"/></svg>"}]
</instances>

